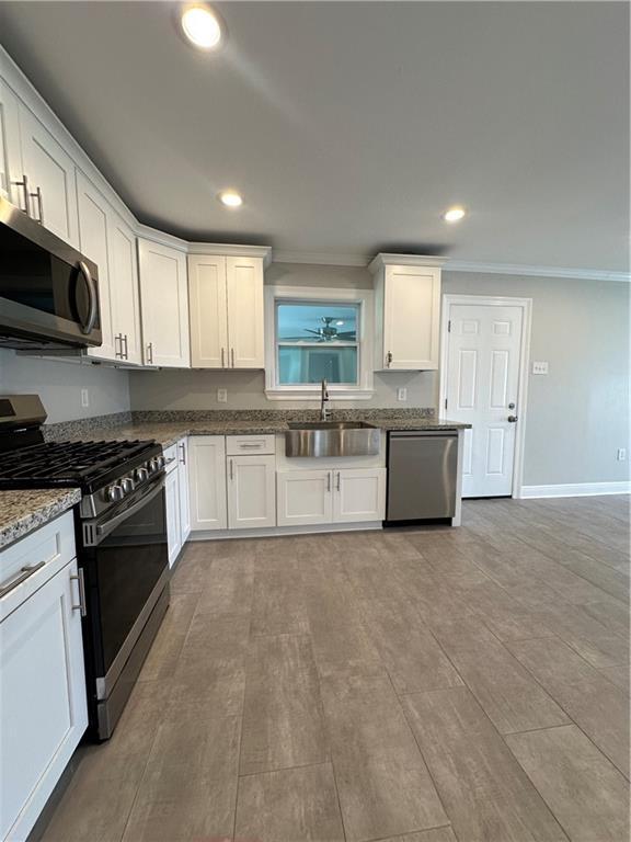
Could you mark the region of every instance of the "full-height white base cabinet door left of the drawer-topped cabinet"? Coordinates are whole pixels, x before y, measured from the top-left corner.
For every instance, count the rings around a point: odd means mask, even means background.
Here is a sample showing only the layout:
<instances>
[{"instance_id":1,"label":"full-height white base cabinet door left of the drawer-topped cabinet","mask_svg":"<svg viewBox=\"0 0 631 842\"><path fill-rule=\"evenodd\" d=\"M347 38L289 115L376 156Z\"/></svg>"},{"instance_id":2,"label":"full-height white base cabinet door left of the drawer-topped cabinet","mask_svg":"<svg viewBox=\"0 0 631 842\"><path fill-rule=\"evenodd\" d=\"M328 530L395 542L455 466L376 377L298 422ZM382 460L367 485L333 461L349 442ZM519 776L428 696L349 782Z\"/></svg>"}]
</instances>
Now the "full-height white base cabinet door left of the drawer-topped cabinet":
<instances>
[{"instance_id":1,"label":"full-height white base cabinet door left of the drawer-topped cabinet","mask_svg":"<svg viewBox=\"0 0 631 842\"><path fill-rule=\"evenodd\" d=\"M223 435L193 435L188 439L188 476L191 530L225 530L228 516Z\"/></svg>"}]
</instances>

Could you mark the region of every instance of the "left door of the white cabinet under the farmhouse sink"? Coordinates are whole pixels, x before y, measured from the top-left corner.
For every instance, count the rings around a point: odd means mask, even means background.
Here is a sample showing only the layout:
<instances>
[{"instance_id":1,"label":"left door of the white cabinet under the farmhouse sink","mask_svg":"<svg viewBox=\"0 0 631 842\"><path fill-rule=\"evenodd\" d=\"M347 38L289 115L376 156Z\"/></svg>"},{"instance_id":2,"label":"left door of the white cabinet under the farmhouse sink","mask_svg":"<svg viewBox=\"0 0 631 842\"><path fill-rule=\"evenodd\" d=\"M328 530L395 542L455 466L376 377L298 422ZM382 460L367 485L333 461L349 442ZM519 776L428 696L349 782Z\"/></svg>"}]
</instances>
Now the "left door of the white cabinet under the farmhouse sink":
<instances>
[{"instance_id":1,"label":"left door of the white cabinet under the farmhouse sink","mask_svg":"<svg viewBox=\"0 0 631 842\"><path fill-rule=\"evenodd\" d=\"M288 470L276 475L278 526L333 521L333 471Z\"/></svg>"}]
</instances>

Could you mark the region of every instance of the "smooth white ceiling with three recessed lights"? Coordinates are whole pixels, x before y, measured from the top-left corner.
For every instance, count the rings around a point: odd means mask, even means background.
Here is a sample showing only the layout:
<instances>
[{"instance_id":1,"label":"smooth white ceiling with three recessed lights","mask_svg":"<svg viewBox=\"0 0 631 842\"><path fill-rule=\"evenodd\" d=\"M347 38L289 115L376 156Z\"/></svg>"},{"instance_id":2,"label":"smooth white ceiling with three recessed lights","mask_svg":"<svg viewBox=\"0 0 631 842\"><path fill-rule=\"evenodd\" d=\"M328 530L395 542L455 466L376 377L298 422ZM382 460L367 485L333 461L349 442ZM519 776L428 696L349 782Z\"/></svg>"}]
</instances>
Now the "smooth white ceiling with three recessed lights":
<instances>
[{"instance_id":1,"label":"smooth white ceiling with three recessed lights","mask_svg":"<svg viewBox=\"0 0 631 842\"><path fill-rule=\"evenodd\" d=\"M142 221L628 271L626 3L218 8L229 39L209 56L175 3L0 3L2 43ZM470 215L449 226L454 203Z\"/></svg>"}]
</instances>

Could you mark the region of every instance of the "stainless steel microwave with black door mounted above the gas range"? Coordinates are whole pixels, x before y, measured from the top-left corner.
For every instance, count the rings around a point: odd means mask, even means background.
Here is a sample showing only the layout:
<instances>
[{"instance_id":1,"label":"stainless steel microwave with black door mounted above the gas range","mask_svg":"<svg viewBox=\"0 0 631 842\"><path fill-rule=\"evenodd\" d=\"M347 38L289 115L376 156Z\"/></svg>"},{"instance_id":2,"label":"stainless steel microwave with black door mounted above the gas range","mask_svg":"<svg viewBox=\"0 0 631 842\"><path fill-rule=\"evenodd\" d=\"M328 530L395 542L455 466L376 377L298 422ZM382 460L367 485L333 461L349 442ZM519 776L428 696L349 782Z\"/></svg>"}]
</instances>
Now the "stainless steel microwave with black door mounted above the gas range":
<instances>
[{"instance_id":1,"label":"stainless steel microwave with black door mounted above the gas range","mask_svg":"<svg viewBox=\"0 0 631 842\"><path fill-rule=\"evenodd\" d=\"M0 196L0 346L101 342L96 264Z\"/></svg>"}]
</instances>

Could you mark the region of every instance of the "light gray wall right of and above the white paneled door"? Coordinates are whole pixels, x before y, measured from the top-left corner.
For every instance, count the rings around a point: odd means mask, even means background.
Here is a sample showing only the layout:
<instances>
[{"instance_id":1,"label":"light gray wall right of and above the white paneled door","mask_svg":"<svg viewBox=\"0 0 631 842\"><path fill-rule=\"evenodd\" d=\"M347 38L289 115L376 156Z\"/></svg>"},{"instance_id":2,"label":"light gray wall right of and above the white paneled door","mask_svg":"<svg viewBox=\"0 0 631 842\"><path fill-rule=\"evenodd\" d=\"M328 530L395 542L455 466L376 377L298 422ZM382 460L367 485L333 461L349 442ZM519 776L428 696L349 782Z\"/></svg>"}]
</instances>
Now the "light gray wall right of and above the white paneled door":
<instances>
[{"instance_id":1,"label":"light gray wall right of and above the white paneled door","mask_svg":"<svg viewBox=\"0 0 631 842\"><path fill-rule=\"evenodd\" d=\"M532 298L524 485L629 479L628 284L444 272L444 293Z\"/></svg>"}]
</instances>

